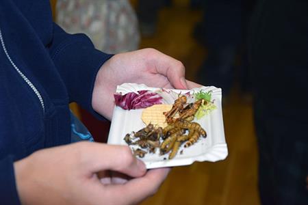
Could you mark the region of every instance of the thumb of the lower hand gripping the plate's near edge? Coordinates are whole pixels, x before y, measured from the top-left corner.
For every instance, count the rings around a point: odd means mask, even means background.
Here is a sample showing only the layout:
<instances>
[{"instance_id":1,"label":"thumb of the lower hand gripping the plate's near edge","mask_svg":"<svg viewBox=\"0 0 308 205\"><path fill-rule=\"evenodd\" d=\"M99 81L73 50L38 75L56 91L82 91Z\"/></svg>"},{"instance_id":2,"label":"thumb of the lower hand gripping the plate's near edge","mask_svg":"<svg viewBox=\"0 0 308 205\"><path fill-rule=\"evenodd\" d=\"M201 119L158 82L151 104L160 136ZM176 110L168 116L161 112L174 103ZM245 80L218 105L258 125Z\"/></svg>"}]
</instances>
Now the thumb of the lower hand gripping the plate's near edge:
<instances>
[{"instance_id":1,"label":"thumb of the lower hand gripping the plate's near edge","mask_svg":"<svg viewBox=\"0 0 308 205\"><path fill-rule=\"evenodd\" d=\"M113 146L105 143L84 142L81 144L81 163L89 175L103 170L113 170L132 177L146 173L142 161L136 159L128 146Z\"/></svg>"}]
</instances>

